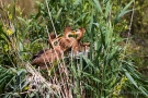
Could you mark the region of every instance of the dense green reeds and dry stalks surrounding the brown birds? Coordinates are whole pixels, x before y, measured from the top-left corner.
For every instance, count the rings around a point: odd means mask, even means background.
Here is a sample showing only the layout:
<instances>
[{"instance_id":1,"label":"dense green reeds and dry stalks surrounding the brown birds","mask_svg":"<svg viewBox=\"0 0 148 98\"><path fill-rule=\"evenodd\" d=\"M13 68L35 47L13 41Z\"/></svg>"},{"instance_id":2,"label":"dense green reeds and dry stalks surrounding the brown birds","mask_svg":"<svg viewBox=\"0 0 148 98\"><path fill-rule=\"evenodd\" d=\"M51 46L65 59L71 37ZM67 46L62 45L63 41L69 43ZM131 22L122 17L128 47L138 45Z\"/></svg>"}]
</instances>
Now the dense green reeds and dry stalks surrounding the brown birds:
<instances>
[{"instance_id":1,"label":"dense green reeds and dry stalks surrounding the brown birds","mask_svg":"<svg viewBox=\"0 0 148 98\"><path fill-rule=\"evenodd\" d=\"M14 0L15 1L15 0ZM3 5L0 21L0 96L52 98L148 97L148 79L129 51L135 0L45 0L31 17ZM130 14L129 14L130 13ZM126 19L126 14L129 16ZM123 19L125 16L125 19ZM65 58L48 71L31 65L37 51L49 48L49 33L84 27L89 57ZM127 30L128 29L128 30ZM127 37L122 38L122 32Z\"/></svg>"}]
</instances>

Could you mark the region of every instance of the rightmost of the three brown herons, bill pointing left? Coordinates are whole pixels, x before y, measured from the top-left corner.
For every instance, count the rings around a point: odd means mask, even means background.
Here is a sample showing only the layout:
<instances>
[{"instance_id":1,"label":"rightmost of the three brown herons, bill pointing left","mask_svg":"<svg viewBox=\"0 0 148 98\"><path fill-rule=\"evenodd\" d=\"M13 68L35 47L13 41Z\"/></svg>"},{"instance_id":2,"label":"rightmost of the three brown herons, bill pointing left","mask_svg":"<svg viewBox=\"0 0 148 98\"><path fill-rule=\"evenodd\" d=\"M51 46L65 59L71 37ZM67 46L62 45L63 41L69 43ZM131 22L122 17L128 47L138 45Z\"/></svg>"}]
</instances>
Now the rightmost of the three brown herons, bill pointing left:
<instances>
[{"instance_id":1,"label":"rightmost of the three brown herons, bill pointing left","mask_svg":"<svg viewBox=\"0 0 148 98\"><path fill-rule=\"evenodd\" d=\"M73 50L75 53L90 50L90 44L89 42L86 42L86 44L81 42L81 39L82 39L84 33L86 33L84 28L80 28L75 33L75 35L79 35L77 37L76 41L72 45L72 50Z\"/></svg>"}]
</instances>

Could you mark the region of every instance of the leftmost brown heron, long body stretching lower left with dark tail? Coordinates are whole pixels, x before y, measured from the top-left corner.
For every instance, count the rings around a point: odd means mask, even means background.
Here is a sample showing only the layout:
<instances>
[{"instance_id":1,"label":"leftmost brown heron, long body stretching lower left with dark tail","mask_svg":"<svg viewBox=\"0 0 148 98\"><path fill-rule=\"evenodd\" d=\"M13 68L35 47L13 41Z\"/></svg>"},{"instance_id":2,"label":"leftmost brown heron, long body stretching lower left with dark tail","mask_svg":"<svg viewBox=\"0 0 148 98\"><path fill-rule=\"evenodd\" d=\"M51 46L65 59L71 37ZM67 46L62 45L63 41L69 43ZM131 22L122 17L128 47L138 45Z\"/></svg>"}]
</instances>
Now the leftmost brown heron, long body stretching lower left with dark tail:
<instances>
[{"instance_id":1,"label":"leftmost brown heron, long body stretching lower left with dark tail","mask_svg":"<svg viewBox=\"0 0 148 98\"><path fill-rule=\"evenodd\" d=\"M49 35L48 42L53 49L41 50L37 54L33 57L32 65L38 65L42 70L46 69L54 61L64 58L64 51L58 45L59 38L56 37L54 33ZM55 44L57 42L57 45Z\"/></svg>"}]
</instances>

